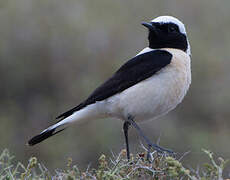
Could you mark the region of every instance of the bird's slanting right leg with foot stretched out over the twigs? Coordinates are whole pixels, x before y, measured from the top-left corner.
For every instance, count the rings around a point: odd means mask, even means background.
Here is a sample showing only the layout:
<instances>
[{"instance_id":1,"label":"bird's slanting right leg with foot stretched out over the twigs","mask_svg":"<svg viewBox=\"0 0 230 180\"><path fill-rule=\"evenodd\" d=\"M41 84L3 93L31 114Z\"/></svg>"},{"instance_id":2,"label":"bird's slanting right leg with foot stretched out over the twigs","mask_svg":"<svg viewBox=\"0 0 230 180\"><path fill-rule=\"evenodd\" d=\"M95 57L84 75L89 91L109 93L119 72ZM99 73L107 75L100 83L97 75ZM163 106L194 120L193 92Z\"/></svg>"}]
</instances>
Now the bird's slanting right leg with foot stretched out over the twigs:
<instances>
[{"instance_id":1,"label":"bird's slanting right leg with foot stretched out over the twigs","mask_svg":"<svg viewBox=\"0 0 230 180\"><path fill-rule=\"evenodd\" d=\"M150 149L153 148L155 149L158 153L164 153L167 152L169 154L174 154L173 151L168 150L168 149L164 149L160 146L158 146L157 144L153 144L151 143L151 141L144 135L143 131L141 130L141 128L136 124L136 122L133 120L132 116L128 117L128 122L130 122L130 124L136 128L138 134L145 140L145 142L148 145L148 155L147 155L147 159L149 160L150 158Z\"/></svg>"}]
</instances>

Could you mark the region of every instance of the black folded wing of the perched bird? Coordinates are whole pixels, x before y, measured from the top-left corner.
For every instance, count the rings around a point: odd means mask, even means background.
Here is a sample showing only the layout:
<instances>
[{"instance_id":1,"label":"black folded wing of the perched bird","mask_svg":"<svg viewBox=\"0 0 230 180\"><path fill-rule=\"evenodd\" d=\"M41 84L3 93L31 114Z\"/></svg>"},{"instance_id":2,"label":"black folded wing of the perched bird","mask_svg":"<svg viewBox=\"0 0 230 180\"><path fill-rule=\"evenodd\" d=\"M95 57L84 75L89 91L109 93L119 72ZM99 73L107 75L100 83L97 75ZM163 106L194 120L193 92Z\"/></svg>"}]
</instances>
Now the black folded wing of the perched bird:
<instances>
[{"instance_id":1,"label":"black folded wing of the perched bird","mask_svg":"<svg viewBox=\"0 0 230 180\"><path fill-rule=\"evenodd\" d=\"M61 118L62 120L87 105L93 104L96 101L102 101L149 78L170 64L171 59L172 54L165 50L150 51L132 58L121 66L110 79L99 86L84 102L59 115L57 119Z\"/></svg>"}]
</instances>

